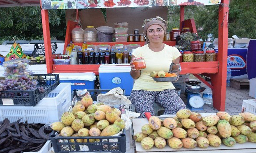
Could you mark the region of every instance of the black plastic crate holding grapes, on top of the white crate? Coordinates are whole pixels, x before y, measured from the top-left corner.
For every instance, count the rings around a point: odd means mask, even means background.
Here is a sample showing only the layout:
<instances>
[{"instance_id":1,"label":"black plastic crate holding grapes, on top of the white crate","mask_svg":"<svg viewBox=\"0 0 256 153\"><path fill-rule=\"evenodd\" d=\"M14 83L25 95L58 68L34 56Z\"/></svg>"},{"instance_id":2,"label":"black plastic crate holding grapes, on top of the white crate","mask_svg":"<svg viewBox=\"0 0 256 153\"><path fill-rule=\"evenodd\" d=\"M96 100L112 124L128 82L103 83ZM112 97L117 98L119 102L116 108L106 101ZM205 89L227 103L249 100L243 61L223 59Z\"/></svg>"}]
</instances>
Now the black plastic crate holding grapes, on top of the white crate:
<instances>
[{"instance_id":1,"label":"black plastic crate holding grapes, on top of the white crate","mask_svg":"<svg viewBox=\"0 0 256 153\"><path fill-rule=\"evenodd\" d=\"M40 93L38 89L35 90L7 90L1 91L0 105L3 105L3 100L13 100L13 105L35 106L54 90L60 84L59 74L35 74L33 78L38 81L38 87L44 87L45 91ZM12 96L4 96L4 93L13 93Z\"/></svg>"}]
</instances>

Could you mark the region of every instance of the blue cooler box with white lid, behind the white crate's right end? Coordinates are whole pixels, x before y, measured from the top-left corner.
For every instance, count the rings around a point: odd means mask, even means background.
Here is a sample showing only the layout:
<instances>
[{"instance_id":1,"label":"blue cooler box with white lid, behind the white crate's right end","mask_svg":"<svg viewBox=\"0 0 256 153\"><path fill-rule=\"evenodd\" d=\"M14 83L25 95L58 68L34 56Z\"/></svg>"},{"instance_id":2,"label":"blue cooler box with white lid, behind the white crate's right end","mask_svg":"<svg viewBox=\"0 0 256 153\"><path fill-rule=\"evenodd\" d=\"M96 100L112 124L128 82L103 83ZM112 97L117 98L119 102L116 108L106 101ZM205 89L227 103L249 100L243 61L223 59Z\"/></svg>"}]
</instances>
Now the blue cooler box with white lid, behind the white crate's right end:
<instances>
[{"instance_id":1,"label":"blue cooler box with white lid, behind the white crate's right end","mask_svg":"<svg viewBox=\"0 0 256 153\"><path fill-rule=\"evenodd\" d=\"M74 89L94 89L96 76L93 72L86 73L60 73L60 82L70 82L71 92Z\"/></svg>"}]
</instances>

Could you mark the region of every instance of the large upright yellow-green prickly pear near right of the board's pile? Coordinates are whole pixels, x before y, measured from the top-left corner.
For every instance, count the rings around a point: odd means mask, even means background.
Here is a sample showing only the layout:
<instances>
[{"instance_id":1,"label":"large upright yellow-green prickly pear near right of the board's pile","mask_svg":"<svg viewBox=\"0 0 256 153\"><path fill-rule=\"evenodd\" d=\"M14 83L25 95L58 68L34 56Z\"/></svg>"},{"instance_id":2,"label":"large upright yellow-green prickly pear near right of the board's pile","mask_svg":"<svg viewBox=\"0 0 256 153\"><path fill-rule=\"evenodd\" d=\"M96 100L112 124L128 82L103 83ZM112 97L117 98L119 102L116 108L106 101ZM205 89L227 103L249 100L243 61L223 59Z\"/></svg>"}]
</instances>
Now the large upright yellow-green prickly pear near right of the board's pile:
<instances>
[{"instance_id":1,"label":"large upright yellow-green prickly pear near right of the board's pile","mask_svg":"<svg viewBox=\"0 0 256 153\"><path fill-rule=\"evenodd\" d=\"M218 132L222 136L222 138L228 138L231 136L232 128L228 121L226 121L226 120L218 121L217 128L218 128Z\"/></svg>"}]
</instances>

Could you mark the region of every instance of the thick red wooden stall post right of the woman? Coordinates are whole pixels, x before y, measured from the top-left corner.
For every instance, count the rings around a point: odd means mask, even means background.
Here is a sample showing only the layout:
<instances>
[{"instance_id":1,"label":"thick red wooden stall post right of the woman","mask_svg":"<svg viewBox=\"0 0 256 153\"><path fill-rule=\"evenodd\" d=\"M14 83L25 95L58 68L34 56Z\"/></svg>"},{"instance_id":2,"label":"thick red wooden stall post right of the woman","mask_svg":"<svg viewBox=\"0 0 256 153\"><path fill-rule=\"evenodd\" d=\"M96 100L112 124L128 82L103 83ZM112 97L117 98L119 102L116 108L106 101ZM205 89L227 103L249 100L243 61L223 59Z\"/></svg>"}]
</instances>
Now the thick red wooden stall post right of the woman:
<instances>
[{"instance_id":1,"label":"thick red wooden stall post right of the woman","mask_svg":"<svg viewBox=\"0 0 256 153\"><path fill-rule=\"evenodd\" d=\"M218 36L218 61L219 72L211 77L213 85L213 107L219 111L225 111L226 78L227 78L227 37L229 0L221 0L219 6L219 36Z\"/></svg>"}]
</instances>

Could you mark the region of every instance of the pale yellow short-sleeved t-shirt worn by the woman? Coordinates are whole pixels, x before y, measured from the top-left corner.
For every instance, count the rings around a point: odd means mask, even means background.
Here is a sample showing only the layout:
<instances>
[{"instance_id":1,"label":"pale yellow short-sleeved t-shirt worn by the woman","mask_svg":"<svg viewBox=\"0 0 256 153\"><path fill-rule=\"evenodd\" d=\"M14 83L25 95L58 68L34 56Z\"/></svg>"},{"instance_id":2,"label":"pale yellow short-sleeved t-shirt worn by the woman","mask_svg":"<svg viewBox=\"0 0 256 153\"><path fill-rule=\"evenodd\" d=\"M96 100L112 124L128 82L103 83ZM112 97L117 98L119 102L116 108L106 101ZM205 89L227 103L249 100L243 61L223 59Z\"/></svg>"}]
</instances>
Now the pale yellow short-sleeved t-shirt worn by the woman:
<instances>
[{"instance_id":1,"label":"pale yellow short-sleeved t-shirt worn by the woman","mask_svg":"<svg viewBox=\"0 0 256 153\"><path fill-rule=\"evenodd\" d=\"M140 76L135 80L133 90L162 91L165 89L175 89L172 82L156 82L150 77L152 71L169 72L170 64L173 59L181 56L179 50L175 47L164 45L164 49L155 52L148 48L148 44L136 48L132 55L135 57L143 57L146 63L145 69L140 71Z\"/></svg>"}]
</instances>

